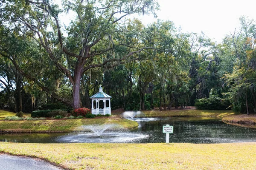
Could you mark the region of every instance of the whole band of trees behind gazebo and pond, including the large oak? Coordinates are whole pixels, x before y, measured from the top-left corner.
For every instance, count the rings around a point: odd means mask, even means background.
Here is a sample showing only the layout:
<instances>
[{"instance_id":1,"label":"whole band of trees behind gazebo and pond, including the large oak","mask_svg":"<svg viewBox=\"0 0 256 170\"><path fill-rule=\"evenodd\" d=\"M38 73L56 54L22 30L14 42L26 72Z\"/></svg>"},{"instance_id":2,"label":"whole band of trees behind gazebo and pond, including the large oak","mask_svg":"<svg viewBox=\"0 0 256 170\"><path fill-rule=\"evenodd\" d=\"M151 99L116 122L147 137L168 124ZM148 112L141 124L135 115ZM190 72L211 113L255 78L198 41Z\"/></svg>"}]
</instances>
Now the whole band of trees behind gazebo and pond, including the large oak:
<instances>
[{"instance_id":1,"label":"whole band of trees behind gazebo and pond, including the large oak","mask_svg":"<svg viewBox=\"0 0 256 170\"><path fill-rule=\"evenodd\" d=\"M157 9L153 0L0 0L0 108L90 108L102 85L112 109L255 113L255 21L242 16L216 44L171 21L127 18ZM71 10L64 26L59 16Z\"/></svg>"}]
</instances>

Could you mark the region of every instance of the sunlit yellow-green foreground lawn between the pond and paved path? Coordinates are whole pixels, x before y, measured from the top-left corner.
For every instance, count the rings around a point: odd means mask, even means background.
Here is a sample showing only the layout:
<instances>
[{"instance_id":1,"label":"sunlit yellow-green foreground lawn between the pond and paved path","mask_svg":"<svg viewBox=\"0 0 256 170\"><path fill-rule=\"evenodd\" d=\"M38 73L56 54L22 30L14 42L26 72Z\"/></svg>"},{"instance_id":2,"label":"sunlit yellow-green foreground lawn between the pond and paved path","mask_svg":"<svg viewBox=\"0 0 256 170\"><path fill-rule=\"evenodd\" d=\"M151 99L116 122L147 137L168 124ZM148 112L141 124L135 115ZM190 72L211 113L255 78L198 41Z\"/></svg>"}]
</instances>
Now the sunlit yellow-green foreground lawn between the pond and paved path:
<instances>
[{"instance_id":1,"label":"sunlit yellow-green foreground lawn between the pond and paved path","mask_svg":"<svg viewBox=\"0 0 256 170\"><path fill-rule=\"evenodd\" d=\"M74 170L256 169L256 143L33 144L0 142L0 152Z\"/></svg>"}]
</instances>

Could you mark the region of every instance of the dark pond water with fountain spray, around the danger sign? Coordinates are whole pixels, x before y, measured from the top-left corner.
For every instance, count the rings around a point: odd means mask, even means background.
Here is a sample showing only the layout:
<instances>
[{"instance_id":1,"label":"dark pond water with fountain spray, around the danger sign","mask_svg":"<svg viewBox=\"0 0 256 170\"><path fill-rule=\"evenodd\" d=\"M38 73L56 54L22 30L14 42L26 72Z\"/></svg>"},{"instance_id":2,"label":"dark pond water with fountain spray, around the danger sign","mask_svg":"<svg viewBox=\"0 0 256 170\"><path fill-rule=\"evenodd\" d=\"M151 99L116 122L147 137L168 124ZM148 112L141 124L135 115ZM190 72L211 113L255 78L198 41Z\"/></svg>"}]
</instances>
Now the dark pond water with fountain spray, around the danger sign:
<instances>
[{"instance_id":1,"label":"dark pond water with fountain spray, around the danger sign","mask_svg":"<svg viewBox=\"0 0 256 170\"><path fill-rule=\"evenodd\" d=\"M20 133L0 135L2 142L26 143L161 143L163 125L174 126L170 143L256 142L256 128L228 125L209 118L139 118L139 127L126 131L106 130L101 136L85 133Z\"/></svg>"}]
</instances>

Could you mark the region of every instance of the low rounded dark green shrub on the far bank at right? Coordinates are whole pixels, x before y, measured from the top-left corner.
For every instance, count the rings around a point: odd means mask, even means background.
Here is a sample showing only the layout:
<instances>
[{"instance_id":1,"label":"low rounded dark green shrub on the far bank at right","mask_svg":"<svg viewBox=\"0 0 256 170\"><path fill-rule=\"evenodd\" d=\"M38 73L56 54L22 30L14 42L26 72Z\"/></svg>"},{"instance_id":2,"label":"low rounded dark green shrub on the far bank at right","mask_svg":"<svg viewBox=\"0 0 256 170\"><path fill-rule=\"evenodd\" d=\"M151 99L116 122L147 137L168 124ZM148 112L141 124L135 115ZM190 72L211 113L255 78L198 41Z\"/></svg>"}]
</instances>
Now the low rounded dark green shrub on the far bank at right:
<instances>
[{"instance_id":1,"label":"low rounded dark green shrub on the far bank at right","mask_svg":"<svg viewBox=\"0 0 256 170\"><path fill-rule=\"evenodd\" d=\"M229 105L217 96L210 96L209 98L196 99L195 107L201 110L226 110Z\"/></svg>"}]
</instances>

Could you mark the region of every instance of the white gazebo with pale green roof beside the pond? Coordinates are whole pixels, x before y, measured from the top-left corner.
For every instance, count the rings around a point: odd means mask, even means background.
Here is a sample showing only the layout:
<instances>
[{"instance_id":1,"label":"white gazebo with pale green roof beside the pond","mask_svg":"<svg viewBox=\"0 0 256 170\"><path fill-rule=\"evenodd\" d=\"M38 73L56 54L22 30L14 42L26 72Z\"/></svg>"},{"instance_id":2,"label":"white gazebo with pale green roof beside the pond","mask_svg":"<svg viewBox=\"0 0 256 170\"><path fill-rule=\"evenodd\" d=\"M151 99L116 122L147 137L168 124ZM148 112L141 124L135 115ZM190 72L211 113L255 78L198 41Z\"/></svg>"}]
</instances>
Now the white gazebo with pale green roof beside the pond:
<instances>
[{"instance_id":1,"label":"white gazebo with pale green roof beside the pond","mask_svg":"<svg viewBox=\"0 0 256 170\"><path fill-rule=\"evenodd\" d=\"M92 99L92 114L101 114L101 115L106 115L110 114L111 115L111 107L110 107L110 99L112 98L108 94L105 94L102 91L101 85L99 85L99 92L94 94L93 96L90 96L90 99ZM103 108L99 108L99 102L103 101ZM96 106L94 108L93 102L96 101ZM108 107L107 107L107 101L108 101Z\"/></svg>"}]
</instances>

